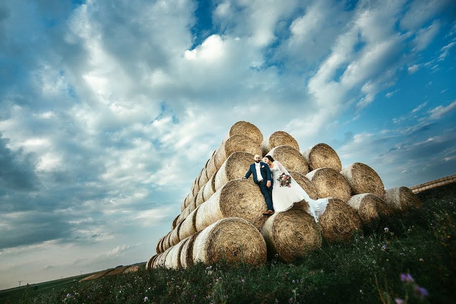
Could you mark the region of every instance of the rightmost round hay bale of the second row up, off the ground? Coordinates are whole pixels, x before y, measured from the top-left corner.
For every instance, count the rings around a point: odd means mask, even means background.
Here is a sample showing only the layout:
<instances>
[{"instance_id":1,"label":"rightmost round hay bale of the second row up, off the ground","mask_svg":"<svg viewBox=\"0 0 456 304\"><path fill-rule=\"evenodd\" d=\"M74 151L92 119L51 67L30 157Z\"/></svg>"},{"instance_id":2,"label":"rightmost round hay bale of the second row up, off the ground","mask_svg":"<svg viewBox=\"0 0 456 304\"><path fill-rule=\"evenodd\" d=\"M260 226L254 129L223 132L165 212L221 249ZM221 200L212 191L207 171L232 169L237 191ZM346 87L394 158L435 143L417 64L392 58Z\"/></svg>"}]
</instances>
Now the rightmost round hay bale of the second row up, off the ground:
<instances>
[{"instance_id":1,"label":"rightmost round hay bale of the second row up, off the ground","mask_svg":"<svg viewBox=\"0 0 456 304\"><path fill-rule=\"evenodd\" d=\"M362 163L353 163L340 171L352 189L352 194L371 193L385 197L383 181L371 167Z\"/></svg>"}]
</instances>

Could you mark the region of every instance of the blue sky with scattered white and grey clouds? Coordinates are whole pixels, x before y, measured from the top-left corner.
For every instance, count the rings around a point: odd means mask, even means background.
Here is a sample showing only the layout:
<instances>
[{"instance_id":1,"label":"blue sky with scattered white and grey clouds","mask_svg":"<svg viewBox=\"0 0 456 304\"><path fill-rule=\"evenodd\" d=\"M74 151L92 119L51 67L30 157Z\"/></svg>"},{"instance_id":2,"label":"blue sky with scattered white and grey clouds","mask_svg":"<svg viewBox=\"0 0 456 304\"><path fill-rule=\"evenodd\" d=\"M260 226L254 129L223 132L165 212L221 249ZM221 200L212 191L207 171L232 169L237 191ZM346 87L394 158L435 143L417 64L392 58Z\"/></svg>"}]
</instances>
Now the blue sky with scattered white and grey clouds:
<instances>
[{"instance_id":1,"label":"blue sky with scattered white and grey clouds","mask_svg":"<svg viewBox=\"0 0 456 304\"><path fill-rule=\"evenodd\" d=\"M237 121L456 173L451 0L0 0L0 289L146 261Z\"/></svg>"}]
</instances>

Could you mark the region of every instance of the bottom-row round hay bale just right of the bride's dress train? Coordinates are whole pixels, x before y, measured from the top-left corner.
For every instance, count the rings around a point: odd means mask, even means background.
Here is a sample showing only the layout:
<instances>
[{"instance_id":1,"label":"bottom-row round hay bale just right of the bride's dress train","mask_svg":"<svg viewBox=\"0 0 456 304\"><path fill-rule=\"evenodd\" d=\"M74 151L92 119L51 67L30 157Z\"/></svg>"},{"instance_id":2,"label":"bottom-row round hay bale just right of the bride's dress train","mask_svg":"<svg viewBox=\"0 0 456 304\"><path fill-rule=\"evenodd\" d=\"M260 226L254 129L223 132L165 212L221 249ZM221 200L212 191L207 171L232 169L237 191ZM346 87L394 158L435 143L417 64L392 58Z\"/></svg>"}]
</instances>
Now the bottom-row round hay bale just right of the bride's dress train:
<instances>
[{"instance_id":1,"label":"bottom-row round hay bale just right of the bride's dress train","mask_svg":"<svg viewBox=\"0 0 456 304\"><path fill-rule=\"evenodd\" d=\"M361 219L356 211L339 199L329 199L319 223L323 239L330 243L350 242L353 233L361 229Z\"/></svg>"}]
</instances>

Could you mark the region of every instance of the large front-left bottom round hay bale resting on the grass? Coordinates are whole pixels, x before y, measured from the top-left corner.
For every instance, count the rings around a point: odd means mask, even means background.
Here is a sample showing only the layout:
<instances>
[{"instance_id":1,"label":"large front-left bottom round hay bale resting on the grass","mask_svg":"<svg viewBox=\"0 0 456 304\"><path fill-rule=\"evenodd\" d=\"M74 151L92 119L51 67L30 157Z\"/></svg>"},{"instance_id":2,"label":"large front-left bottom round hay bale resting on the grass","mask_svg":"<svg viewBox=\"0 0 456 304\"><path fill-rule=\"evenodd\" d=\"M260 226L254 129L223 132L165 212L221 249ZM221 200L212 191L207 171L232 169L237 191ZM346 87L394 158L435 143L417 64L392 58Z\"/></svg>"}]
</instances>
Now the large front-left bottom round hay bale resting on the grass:
<instances>
[{"instance_id":1,"label":"large front-left bottom round hay bale resting on the grass","mask_svg":"<svg viewBox=\"0 0 456 304\"><path fill-rule=\"evenodd\" d=\"M223 218L204 229L193 244L193 261L214 263L244 261L264 264L267 249L264 239L250 222L243 218Z\"/></svg>"}]
</instances>

